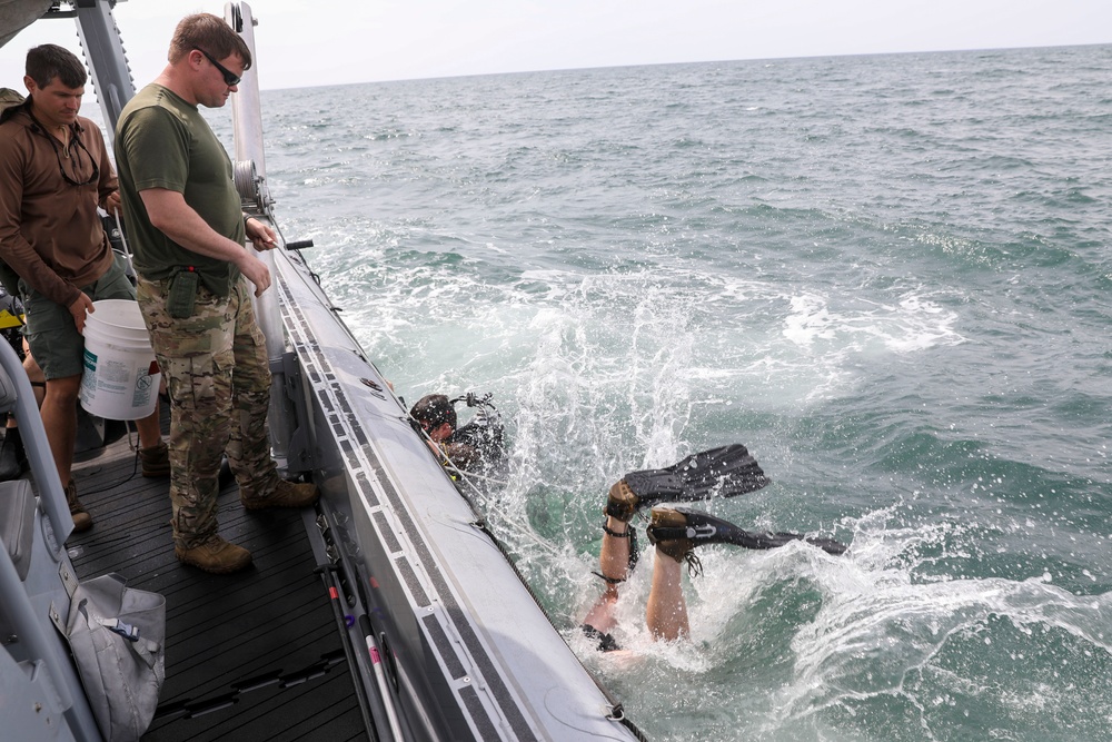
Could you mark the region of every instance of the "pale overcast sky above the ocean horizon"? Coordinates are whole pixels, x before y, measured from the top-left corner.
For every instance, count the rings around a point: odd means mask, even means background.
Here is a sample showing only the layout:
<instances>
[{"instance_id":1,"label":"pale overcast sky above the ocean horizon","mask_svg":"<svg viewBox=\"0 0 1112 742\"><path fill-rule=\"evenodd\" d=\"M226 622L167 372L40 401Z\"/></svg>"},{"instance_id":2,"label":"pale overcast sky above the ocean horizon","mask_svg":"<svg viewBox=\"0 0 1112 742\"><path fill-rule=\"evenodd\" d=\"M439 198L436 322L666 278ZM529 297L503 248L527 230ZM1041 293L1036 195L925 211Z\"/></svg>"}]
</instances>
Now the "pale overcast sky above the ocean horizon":
<instances>
[{"instance_id":1,"label":"pale overcast sky above the ocean horizon","mask_svg":"<svg viewBox=\"0 0 1112 742\"><path fill-rule=\"evenodd\" d=\"M138 87L173 26L209 0L121 0ZM264 89L664 62L1112 42L1112 0L255 0ZM0 87L23 56L78 50L72 20L0 49ZM91 90L90 90L91 92Z\"/></svg>"}]
</instances>

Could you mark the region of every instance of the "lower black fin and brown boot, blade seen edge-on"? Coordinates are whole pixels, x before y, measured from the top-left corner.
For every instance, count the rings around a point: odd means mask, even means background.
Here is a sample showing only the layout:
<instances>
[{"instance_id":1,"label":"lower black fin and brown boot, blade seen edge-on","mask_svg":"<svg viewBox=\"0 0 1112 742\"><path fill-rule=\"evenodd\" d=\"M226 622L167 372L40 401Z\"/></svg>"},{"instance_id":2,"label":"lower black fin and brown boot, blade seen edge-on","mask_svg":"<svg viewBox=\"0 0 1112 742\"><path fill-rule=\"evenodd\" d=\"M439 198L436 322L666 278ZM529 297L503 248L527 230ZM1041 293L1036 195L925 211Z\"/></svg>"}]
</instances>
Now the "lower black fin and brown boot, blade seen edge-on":
<instances>
[{"instance_id":1,"label":"lower black fin and brown boot, blade seen edge-on","mask_svg":"<svg viewBox=\"0 0 1112 742\"><path fill-rule=\"evenodd\" d=\"M653 522L649 524L648 541L656 545L657 551L667 554L677 562L687 562L692 574L702 571L696 546L706 544L732 544L744 548L776 548L793 541L806 541L827 554L842 554L845 544L833 538L806 537L798 533L753 533L743 531L733 523L716 518L713 515L692 511L685 507L654 507Z\"/></svg>"}]
</instances>

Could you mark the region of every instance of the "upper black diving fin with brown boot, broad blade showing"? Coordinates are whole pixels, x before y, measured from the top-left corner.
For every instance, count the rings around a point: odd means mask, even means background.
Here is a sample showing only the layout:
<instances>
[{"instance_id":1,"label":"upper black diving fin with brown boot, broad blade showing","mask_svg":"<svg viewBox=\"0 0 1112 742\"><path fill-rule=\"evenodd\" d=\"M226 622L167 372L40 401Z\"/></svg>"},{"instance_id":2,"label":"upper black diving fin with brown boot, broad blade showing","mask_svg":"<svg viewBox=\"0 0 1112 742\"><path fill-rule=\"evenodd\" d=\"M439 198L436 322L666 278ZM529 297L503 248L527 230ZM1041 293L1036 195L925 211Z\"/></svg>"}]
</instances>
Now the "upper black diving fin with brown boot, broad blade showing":
<instances>
[{"instance_id":1,"label":"upper black diving fin with brown boot, broad blade showing","mask_svg":"<svg viewBox=\"0 0 1112 742\"><path fill-rule=\"evenodd\" d=\"M605 512L628 522L654 503L735 497L770 482L745 446L734 443L692 454L667 468L629 472L610 487Z\"/></svg>"}]
</instances>

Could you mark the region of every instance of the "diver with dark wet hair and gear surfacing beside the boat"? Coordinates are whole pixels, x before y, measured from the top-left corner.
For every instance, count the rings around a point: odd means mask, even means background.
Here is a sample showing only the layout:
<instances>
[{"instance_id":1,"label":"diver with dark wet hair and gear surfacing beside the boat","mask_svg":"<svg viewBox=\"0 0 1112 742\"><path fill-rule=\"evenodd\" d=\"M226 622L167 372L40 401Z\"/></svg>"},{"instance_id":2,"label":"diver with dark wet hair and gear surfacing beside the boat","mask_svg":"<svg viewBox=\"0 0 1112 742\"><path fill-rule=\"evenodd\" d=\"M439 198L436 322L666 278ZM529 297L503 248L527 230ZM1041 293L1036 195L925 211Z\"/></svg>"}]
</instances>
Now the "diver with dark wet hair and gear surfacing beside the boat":
<instances>
[{"instance_id":1,"label":"diver with dark wet hair and gear surfacing beside the boat","mask_svg":"<svg viewBox=\"0 0 1112 742\"><path fill-rule=\"evenodd\" d=\"M429 394L417 400L409 416L420 426L437 458L463 472L476 472L499 463L503 456L502 417L490 397L468 393L449 399L443 394ZM478 408L463 427L457 427L457 402Z\"/></svg>"}]
</instances>

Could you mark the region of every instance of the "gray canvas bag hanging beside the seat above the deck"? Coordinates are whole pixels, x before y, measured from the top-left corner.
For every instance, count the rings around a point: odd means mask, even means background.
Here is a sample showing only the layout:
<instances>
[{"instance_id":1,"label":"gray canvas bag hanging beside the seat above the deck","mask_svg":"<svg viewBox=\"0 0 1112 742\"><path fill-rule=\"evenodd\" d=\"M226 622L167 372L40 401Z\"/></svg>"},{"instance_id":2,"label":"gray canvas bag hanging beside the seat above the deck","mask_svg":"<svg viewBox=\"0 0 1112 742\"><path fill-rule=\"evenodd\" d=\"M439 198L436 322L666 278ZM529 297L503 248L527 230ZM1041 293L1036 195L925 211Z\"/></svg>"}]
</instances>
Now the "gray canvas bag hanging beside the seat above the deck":
<instances>
[{"instance_id":1,"label":"gray canvas bag hanging beside the seat above the deck","mask_svg":"<svg viewBox=\"0 0 1112 742\"><path fill-rule=\"evenodd\" d=\"M77 586L64 625L53 605L50 613L73 653L101 735L138 741L166 679L166 598L106 574Z\"/></svg>"}]
</instances>

